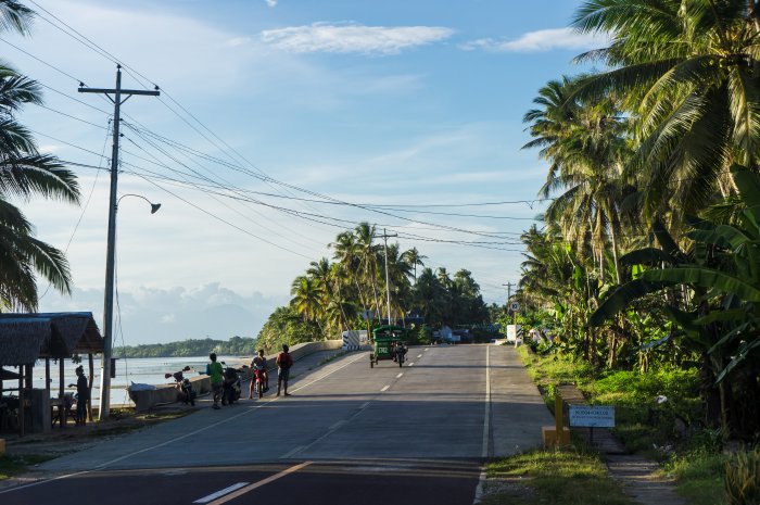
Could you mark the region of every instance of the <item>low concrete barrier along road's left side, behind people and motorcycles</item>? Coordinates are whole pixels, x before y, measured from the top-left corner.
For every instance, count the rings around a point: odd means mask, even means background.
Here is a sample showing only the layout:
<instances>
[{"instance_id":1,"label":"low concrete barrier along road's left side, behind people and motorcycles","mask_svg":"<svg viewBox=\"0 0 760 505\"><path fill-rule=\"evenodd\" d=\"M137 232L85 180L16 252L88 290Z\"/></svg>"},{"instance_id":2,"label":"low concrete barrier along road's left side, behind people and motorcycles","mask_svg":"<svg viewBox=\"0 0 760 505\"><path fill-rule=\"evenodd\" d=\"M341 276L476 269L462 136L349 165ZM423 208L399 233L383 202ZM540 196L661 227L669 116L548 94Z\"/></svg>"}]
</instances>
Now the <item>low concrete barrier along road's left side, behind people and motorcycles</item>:
<instances>
[{"instance_id":1,"label":"low concrete barrier along road's left side, behind people and motorcycles","mask_svg":"<svg viewBox=\"0 0 760 505\"><path fill-rule=\"evenodd\" d=\"M293 362L297 362L304 356L314 354L320 351L333 351L341 349L343 346L343 340L325 340L321 342L304 342L296 343L290 348L290 355ZM279 354L279 353L277 353ZM275 361L277 359L277 354L266 356L267 368L270 370L277 370L277 365ZM250 363L250 362L249 362ZM230 366L237 366L233 363L228 363ZM241 379L243 381L251 380L251 369L248 368L248 364L244 371L241 374ZM211 378L205 375L190 377L190 382L192 383L195 394L201 395L211 392ZM129 397L135 402L136 412L150 411L156 405L174 403L177 401L177 387L175 384L160 384L155 389L144 390L144 391L131 391Z\"/></svg>"}]
</instances>

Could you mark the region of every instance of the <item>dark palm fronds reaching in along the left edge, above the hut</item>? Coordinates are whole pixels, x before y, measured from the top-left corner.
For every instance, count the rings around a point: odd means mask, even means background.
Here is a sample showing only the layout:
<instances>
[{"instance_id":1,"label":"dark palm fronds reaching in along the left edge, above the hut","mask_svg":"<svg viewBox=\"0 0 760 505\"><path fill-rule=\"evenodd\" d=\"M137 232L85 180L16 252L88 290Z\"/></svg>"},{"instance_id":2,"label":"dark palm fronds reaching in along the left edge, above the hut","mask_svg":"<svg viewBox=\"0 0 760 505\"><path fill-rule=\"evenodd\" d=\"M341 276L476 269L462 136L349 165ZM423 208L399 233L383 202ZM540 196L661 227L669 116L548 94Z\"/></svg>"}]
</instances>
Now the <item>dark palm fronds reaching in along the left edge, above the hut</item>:
<instances>
[{"instance_id":1,"label":"dark palm fronds reaching in along the left edge, above the hut","mask_svg":"<svg viewBox=\"0 0 760 505\"><path fill-rule=\"evenodd\" d=\"M34 13L18 2L0 0L0 29L28 33ZM16 114L26 103L41 103L39 86L0 64L0 312L37 308L37 274L61 292L71 291L64 254L34 237L33 226L11 202L33 197L78 203L75 175L59 160L38 152Z\"/></svg>"}]
</instances>

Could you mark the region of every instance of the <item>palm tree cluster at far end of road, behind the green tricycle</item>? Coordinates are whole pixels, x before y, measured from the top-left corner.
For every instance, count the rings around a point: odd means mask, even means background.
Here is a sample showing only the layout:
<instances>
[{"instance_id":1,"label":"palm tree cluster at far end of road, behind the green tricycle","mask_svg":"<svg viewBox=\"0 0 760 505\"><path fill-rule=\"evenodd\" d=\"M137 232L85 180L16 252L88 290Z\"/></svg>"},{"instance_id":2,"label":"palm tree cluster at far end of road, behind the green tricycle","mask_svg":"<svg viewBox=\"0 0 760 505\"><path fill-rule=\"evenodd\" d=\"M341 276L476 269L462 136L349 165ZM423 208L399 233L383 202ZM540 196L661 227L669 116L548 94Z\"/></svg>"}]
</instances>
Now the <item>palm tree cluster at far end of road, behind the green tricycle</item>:
<instances>
[{"instance_id":1,"label":"palm tree cluster at far end of road, behind the green tricycle","mask_svg":"<svg viewBox=\"0 0 760 505\"><path fill-rule=\"evenodd\" d=\"M480 286L469 270L460 269L452 277L445 268L425 267L426 256L417 248L402 251L398 243L389 243L385 250L369 223L339 233L330 248L332 260L313 261L293 280L290 305L278 308L264 325L262 346L340 338L349 329L371 331L389 318L387 278L394 324L409 314L423 317L433 327L480 324L489 318Z\"/></svg>"}]
</instances>

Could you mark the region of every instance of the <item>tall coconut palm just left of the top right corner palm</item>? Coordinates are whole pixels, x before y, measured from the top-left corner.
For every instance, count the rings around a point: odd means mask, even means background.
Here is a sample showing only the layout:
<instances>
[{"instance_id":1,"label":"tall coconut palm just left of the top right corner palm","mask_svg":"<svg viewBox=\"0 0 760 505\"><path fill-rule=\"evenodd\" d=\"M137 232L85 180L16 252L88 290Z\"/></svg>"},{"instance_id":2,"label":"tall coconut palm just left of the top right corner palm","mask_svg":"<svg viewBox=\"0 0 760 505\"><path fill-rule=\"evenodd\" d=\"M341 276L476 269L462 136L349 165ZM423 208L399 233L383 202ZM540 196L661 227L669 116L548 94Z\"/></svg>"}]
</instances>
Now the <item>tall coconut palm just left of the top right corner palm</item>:
<instances>
[{"instance_id":1,"label":"tall coconut palm just left of the top right corner palm","mask_svg":"<svg viewBox=\"0 0 760 505\"><path fill-rule=\"evenodd\" d=\"M605 251L611 249L619 283L620 203L632 192L622 179L630 156L629 121L610 97L573 99L578 80L563 77L539 91L533 102L541 109L524 116L534 139L523 149L542 147L542 157L550 163L540 194L559 194L546 209L547 223L557 224L579 249L591 240L601 280L607 268Z\"/></svg>"}]
</instances>

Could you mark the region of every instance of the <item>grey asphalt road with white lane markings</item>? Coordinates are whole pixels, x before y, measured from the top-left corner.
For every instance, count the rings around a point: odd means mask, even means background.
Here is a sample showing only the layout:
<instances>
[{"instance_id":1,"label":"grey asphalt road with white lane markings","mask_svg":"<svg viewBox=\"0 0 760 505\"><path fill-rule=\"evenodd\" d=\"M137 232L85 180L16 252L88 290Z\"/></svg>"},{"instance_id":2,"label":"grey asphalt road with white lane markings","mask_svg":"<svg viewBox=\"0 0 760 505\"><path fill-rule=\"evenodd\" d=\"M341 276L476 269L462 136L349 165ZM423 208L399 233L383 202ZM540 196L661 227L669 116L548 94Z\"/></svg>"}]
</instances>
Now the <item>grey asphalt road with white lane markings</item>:
<instances>
[{"instance_id":1,"label":"grey asphalt road with white lane markings","mask_svg":"<svg viewBox=\"0 0 760 505\"><path fill-rule=\"evenodd\" d=\"M457 345L411 348L402 368L370 368L366 352L296 364L292 396L203 408L48 462L52 478L0 503L469 505L483 458L535 444L534 425L548 424L514 354Z\"/></svg>"}]
</instances>

